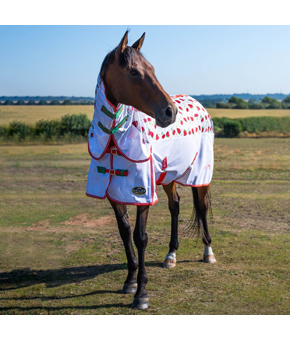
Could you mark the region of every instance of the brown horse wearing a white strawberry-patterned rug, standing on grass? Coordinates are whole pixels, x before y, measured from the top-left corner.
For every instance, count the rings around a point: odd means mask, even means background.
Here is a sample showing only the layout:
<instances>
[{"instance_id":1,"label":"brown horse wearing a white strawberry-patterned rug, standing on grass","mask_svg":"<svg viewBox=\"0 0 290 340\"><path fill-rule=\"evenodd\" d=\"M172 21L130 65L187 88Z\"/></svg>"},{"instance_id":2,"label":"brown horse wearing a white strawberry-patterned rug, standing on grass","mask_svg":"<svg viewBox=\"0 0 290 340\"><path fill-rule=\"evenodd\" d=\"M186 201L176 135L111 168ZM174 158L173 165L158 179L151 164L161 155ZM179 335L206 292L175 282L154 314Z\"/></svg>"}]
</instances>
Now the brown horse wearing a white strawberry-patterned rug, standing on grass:
<instances>
[{"instance_id":1,"label":"brown horse wearing a white strawberry-patterned rug, standing on grass","mask_svg":"<svg viewBox=\"0 0 290 340\"><path fill-rule=\"evenodd\" d=\"M186 95L170 97L164 91L154 67L140 52L144 38L145 33L132 46L128 46L126 31L119 45L107 54L101 65L95 91L95 113L89 130L89 153L92 158L86 193L90 197L108 198L114 210L128 266L121 292L135 293L132 308L141 310L149 307L145 269L148 243L146 223L150 205L158 200L156 183L163 186L171 214L169 252L163 267L176 266L179 247L180 197L176 183L191 186L195 211L192 227L202 234L205 246L203 262L216 262L207 223L213 167L212 121L202 105L193 98ZM202 125L205 120L207 125ZM180 127L186 127L183 133ZM185 135L190 137L184 139L187 142L183 146L180 135L182 138ZM161 155L165 140L165 149L168 152L171 150L179 159L170 161L170 154L168 157ZM199 142L195 143L196 140ZM163 149L159 145L163 145ZM193 152L194 148L197 148L196 152ZM212 158L211 164L204 163L208 155ZM180 169L178 167L186 157L190 162L184 171L181 166ZM196 165L193 166L196 162L200 168L198 173ZM178 169L175 170L175 167ZM203 179L200 179L199 173L202 173ZM137 206L133 240L138 250L138 261L133 248L127 204Z\"/></svg>"}]
</instances>

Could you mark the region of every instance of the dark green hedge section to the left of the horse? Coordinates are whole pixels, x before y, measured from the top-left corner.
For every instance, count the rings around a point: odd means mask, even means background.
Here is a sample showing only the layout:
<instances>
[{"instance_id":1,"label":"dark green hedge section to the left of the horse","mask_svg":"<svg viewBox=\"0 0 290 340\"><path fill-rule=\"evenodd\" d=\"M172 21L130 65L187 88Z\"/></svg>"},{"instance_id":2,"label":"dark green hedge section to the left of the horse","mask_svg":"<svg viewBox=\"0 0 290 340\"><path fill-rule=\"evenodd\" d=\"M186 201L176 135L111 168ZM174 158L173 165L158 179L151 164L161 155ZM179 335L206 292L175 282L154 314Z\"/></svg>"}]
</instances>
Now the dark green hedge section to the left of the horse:
<instances>
[{"instance_id":1,"label":"dark green hedge section to the left of the horse","mask_svg":"<svg viewBox=\"0 0 290 340\"><path fill-rule=\"evenodd\" d=\"M86 140L91 121L85 114L65 115L60 120L40 120L35 125L13 121L0 126L0 141Z\"/></svg>"}]
</instances>

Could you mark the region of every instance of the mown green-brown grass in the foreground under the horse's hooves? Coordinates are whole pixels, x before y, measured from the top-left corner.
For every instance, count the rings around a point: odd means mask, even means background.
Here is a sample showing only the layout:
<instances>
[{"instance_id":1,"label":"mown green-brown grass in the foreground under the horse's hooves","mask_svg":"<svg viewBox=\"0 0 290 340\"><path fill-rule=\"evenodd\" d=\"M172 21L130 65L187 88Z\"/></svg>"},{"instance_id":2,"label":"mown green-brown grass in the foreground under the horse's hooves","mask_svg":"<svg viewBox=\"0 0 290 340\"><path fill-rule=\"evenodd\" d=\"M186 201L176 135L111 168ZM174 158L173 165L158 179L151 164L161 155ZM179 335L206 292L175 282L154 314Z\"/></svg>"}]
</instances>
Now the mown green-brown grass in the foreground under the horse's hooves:
<instances>
[{"instance_id":1,"label":"mown green-brown grass in the foreground under the horse's hooves","mask_svg":"<svg viewBox=\"0 0 290 340\"><path fill-rule=\"evenodd\" d=\"M201 262L184 225L177 267L161 268L170 218L162 188L150 209L150 307L120 294L126 261L108 201L85 196L84 144L0 146L1 314L290 314L290 141L216 139L210 231L217 263ZM134 225L135 209L129 208Z\"/></svg>"}]
</instances>

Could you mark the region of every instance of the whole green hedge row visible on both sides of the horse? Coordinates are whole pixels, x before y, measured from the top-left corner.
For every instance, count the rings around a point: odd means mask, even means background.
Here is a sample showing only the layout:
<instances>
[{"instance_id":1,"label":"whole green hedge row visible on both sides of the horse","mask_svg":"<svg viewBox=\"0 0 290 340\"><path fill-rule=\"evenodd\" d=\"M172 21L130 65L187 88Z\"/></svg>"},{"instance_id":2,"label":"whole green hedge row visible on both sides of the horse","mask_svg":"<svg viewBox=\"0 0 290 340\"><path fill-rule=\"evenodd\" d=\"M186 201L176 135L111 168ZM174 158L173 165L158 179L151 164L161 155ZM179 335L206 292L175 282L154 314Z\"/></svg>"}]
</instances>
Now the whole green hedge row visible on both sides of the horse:
<instances>
[{"instance_id":1,"label":"whole green hedge row visible on both sides of the horse","mask_svg":"<svg viewBox=\"0 0 290 340\"><path fill-rule=\"evenodd\" d=\"M216 137L237 137L241 132L290 134L290 117L213 118ZM14 121L0 126L0 142L85 141L91 121L85 114L40 120L35 125Z\"/></svg>"}]
</instances>

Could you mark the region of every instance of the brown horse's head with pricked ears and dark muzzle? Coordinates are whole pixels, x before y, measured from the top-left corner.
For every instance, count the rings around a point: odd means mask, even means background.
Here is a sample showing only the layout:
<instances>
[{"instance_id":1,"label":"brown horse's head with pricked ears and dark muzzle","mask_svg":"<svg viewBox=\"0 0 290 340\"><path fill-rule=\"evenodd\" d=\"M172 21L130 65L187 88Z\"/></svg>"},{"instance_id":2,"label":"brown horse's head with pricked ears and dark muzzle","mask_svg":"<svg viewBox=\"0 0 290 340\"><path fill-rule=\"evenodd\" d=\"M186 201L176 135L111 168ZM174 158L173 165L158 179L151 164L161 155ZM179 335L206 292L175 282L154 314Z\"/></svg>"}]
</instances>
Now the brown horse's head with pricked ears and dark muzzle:
<instances>
[{"instance_id":1,"label":"brown horse's head with pricked ears and dark muzzle","mask_svg":"<svg viewBox=\"0 0 290 340\"><path fill-rule=\"evenodd\" d=\"M160 127L174 123L177 108L159 83L154 67L140 53L145 33L128 46L128 31L103 61L101 78L108 100L130 105L156 120Z\"/></svg>"}]
</instances>

